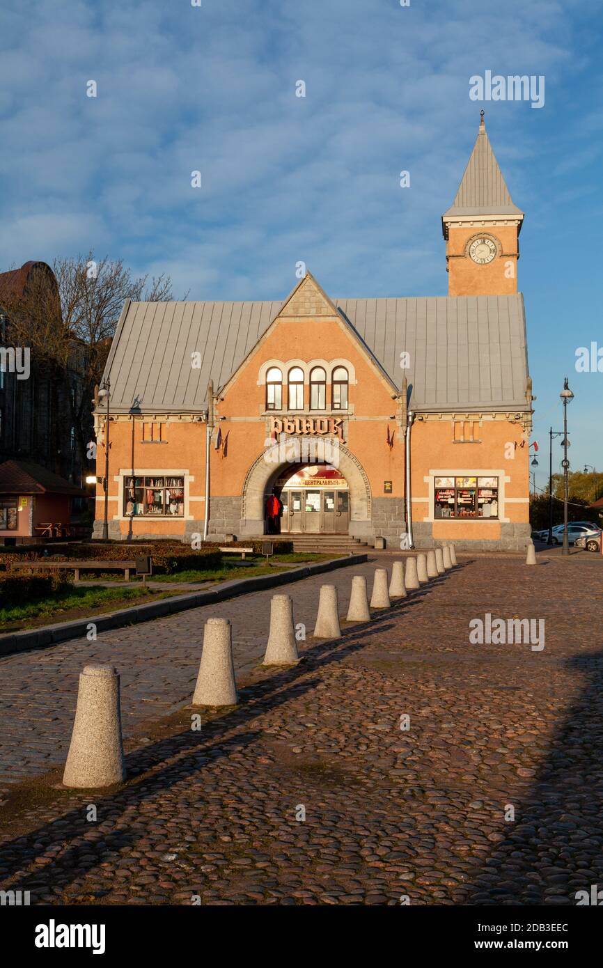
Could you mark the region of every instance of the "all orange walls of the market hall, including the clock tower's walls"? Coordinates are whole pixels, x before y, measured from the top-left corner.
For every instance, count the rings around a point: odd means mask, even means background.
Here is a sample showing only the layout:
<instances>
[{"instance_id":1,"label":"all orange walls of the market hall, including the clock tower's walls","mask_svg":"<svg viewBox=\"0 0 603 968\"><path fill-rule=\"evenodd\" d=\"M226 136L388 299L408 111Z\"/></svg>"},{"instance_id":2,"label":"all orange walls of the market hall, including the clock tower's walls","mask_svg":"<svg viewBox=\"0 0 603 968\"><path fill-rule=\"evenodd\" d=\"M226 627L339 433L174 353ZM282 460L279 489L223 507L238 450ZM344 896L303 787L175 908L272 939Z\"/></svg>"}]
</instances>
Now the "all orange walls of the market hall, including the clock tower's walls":
<instances>
[{"instance_id":1,"label":"all orange walls of the market hall, including the clock tower's walls","mask_svg":"<svg viewBox=\"0 0 603 968\"><path fill-rule=\"evenodd\" d=\"M453 317L456 297L517 291L521 224L495 218L456 219L455 224L455 219L446 225ZM484 264L468 251L480 233L496 246L496 256ZM471 304L469 321L472 311ZM214 338L221 339L220 333ZM188 361L182 365L185 381ZM336 406L334 395L340 390L335 381L342 372L347 375L346 406L341 399ZM270 391L277 394L270 404L267 383L279 373L282 383ZM324 386L313 390L317 373L325 375ZM291 374L298 375L297 389L289 389ZM275 524L266 514L273 491L288 501L276 526L288 532L299 499L293 491L279 491L277 482L300 466L334 466L345 478L339 484L348 499L341 507L346 532L353 537L371 543L383 536L393 548L429 547L442 540L470 548L523 548L529 536L529 379L521 401L515 392L509 408L499 401L492 408L437 408L435 403L415 405L410 381L407 385L403 377L402 370L384 370L345 314L306 275L225 384L210 383L204 410L133 408L111 416L109 536L185 542L199 536L223 541L230 535L258 536ZM101 410L96 425L97 472L102 475L106 418ZM332 527L327 510L339 499L331 493L320 497L324 518L314 515L330 524L318 530ZM308 500L304 492L301 502ZM95 536L101 535L104 508L99 485ZM312 520L315 510L310 501L304 521ZM337 514L341 525L342 514Z\"/></svg>"}]
</instances>

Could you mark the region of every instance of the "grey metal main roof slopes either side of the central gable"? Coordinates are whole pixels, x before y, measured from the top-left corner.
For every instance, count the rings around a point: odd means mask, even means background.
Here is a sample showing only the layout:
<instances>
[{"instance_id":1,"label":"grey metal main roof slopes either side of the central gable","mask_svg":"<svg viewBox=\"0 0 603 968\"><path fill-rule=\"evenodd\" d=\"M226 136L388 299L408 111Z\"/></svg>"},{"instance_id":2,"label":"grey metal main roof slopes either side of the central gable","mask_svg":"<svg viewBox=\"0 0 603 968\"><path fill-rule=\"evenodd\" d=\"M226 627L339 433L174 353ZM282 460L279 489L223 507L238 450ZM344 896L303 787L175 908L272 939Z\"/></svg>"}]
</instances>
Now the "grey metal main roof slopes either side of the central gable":
<instances>
[{"instance_id":1,"label":"grey metal main roof slopes either side of the central gable","mask_svg":"<svg viewBox=\"0 0 603 968\"><path fill-rule=\"evenodd\" d=\"M399 388L423 409L527 409L524 300L506 296L334 299ZM106 364L114 412L198 412L240 366L282 302L133 302ZM403 371L400 354L410 354ZM202 357L191 366L192 353ZM286 348L283 349L286 356ZM326 354L325 354L326 355Z\"/></svg>"}]
</instances>

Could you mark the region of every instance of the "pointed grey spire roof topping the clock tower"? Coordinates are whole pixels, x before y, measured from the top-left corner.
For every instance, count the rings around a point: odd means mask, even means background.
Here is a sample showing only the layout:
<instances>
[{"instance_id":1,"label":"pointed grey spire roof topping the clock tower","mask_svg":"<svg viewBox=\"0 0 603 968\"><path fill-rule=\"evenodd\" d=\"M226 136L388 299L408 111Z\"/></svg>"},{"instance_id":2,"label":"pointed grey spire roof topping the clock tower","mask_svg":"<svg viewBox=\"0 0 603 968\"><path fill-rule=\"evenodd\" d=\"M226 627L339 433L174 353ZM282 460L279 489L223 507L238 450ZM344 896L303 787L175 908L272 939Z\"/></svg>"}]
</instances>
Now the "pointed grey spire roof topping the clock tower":
<instances>
[{"instance_id":1,"label":"pointed grey spire roof topping the clock tower","mask_svg":"<svg viewBox=\"0 0 603 968\"><path fill-rule=\"evenodd\" d=\"M463 215L516 215L524 213L509 195L497 158L486 132L484 112L467 167L450 208L442 219Z\"/></svg>"}]
</instances>

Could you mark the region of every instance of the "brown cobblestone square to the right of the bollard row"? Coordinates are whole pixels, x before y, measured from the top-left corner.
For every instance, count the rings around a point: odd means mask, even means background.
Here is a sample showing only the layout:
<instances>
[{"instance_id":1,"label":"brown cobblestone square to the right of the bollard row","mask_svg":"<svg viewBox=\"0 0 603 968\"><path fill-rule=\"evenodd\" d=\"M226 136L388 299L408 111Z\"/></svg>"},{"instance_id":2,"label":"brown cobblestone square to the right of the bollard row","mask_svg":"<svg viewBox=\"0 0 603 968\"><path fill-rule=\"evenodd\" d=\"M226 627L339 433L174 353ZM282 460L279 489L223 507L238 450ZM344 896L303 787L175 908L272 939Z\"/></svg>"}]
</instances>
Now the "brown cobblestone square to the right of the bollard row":
<instances>
[{"instance_id":1,"label":"brown cobblestone square to the right of the bollard row","mask_svg":"<svg viewBox=\"0 0 603 968\"><path fill-rule=\"evenodd\" d=\"M312 581L289 587L302 614ZM602 582L584 560L466 560L276 672L253 668L269 594L225 603L248 625L240 705L203 713L200 732L183 710L134 738L115 791L49 787L17 833L3 828L0 887L32 903L574 904L603 881ZM486 613L545 620L545 648L469 644ZM162 622L161 647L146 646L165 706L167 653L171 681L190 685L201 619L169 642ZM136 631L111 634L124 673L128 645L143 660ZM66 686L89 656L59 649L46 709L66 692L71 719ZM46 657L21 675L42 681ZM153 681L139 675L125 707Z\"/></svg>"}]
</instances>

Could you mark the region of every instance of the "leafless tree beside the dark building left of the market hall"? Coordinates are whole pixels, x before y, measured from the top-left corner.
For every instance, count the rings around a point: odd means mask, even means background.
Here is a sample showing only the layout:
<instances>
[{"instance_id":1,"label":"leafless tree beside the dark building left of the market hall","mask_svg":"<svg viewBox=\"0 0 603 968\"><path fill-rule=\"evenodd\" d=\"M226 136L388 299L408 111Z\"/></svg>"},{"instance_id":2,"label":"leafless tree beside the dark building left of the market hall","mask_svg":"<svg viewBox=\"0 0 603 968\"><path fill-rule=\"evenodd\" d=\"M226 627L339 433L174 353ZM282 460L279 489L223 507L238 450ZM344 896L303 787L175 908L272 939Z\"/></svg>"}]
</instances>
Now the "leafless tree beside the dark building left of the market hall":
<instances>
[{"instance_id":1,"label":"leafless tree beside the dark building left of the market hall","mask_svg":"<svg viewBox=\"0 0 603 968\"><path fill-rule=\"evenodd\" d=\"M83 457L92 428L94 387L103 376L124 302L170 300L171 280L165 273L135 277L122 259L96 259L93 252L56 258L52 272L54 279L43 266L32 272L23 293L7 304L11 340L30 347L34 364L54 383L64 381Z\"/></svg>"}]
</instances>

